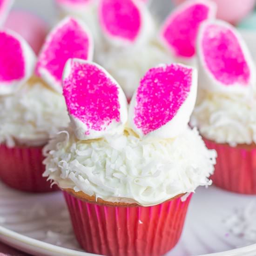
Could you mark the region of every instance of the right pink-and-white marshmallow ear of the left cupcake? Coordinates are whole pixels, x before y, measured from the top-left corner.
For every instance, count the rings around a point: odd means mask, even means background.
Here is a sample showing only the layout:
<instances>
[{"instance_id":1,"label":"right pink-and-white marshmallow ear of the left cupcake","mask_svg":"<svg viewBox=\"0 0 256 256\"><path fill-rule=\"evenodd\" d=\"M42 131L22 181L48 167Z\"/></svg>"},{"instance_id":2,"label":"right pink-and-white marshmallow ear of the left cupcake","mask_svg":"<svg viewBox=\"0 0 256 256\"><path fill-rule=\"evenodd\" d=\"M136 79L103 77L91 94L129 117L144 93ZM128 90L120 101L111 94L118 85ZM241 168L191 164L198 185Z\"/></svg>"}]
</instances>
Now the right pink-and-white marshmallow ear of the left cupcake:
<instances>
[{"instance_id":1,"label":"right pink-and-white marshmallow ear of the left cupcake","mask_svg":"<svg viewBox=\"0 0 256 256\"><path fill-rule=\"evenodd\" d=\"M48 34L35 73L61 92L61 77L67 60L91 60L92 55L93 40L88 28L83 22L67 17Z\"/></svg>"}]
</instances>

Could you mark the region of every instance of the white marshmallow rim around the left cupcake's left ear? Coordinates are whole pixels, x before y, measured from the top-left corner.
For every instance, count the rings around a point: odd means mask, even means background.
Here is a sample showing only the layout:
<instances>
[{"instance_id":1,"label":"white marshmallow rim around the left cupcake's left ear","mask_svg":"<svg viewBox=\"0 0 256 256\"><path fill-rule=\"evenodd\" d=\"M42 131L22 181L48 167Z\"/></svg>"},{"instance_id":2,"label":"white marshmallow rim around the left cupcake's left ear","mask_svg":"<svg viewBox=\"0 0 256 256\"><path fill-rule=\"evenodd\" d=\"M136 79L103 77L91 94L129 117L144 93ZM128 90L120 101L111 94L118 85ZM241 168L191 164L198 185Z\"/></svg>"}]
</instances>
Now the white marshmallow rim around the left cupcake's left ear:
<instances>
[{"instance_id":1,"label":"white marshmallow rim around the left cupcake's left ear","mask_svg":"<svg viewBox=\"0 0 256 256\"><path fill-rule=\"evenodd\" d=\"M24 40L19 34L17 34L14 31L7 30L6 34L8 36L12 36L16 40L20 42L20 47L22 50L22 62L24 62L24 76L19 80L12 80L12 81L1 81L0 83L0 95L1 94L11 94L22 84L27 81L27 79L33 74L34 72L34 66L36 62L36 56L34 54L34 51L29 46L26 40ZM4 54L4 53L2 53ZM12 53L7 53L7 56L10 57ZM11 56L12 58L12 56ZM7 60L8 61L8 60ZM7 63L8 64L8 63Z\"/></svg>"}]
</instances>

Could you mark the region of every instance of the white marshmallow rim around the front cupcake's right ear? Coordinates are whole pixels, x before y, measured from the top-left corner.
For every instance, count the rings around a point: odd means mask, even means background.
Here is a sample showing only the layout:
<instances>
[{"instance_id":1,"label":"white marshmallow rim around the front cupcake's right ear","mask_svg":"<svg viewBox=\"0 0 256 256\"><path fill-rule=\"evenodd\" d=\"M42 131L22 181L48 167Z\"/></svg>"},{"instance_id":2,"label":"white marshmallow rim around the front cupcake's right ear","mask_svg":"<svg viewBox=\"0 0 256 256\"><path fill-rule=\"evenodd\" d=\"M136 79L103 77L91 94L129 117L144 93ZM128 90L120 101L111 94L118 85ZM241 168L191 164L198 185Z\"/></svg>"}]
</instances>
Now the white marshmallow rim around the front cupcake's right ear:
<instances>
[{"instance_id":1,"label":"white marshmallow rim around the front cupcake's right ear","mask_svg":"<svg viewBox=\"0 0 256 256\"><path fill-rule=\"evenodd\" d=\"M182 64L176 64L176 66L186 67ZM191 70L190 67L187 67L188 70ZM177 135L180 135L184 132L187 128L187 124L189 123L190 115L195 107L195 100L197 94L197 70L192 69L192 79L191 79L191 86L190 91L182 103L181 107L178 109L176 115L172 118L172 120L168 121L165 125L161 126L160 128L148 133L148 135L144 135L141 128L137 128L136 124L134 123L134 110L135 106L137 105L136 96L137 93L133 95L129 106L129 125L138 134L140 137L145 136L145 138L174 138Z\"/></svg>"}]
</instances>

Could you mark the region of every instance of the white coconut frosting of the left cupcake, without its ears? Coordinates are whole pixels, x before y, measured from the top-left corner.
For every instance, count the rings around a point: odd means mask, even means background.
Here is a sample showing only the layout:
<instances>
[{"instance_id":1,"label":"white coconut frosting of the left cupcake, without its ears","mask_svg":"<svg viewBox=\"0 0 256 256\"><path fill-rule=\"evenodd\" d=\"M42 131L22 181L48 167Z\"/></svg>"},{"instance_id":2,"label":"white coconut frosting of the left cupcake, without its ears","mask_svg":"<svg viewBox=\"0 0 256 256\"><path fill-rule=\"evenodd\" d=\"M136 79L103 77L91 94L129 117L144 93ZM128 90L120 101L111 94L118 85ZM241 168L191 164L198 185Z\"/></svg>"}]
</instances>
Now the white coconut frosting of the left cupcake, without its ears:
<instances>
[{"instance_id":1,"label":"white coconut frosting of the left cupcake, without its ears","mask_svg":"<svg viewBox=\"0 0 256 256\"><path fill-rule=\"evenodd\" d=\"M64 97L39 81L23 85L15 94L0 96L0 143L40 146L69 118Z\"/></svg>"}]
</instances>

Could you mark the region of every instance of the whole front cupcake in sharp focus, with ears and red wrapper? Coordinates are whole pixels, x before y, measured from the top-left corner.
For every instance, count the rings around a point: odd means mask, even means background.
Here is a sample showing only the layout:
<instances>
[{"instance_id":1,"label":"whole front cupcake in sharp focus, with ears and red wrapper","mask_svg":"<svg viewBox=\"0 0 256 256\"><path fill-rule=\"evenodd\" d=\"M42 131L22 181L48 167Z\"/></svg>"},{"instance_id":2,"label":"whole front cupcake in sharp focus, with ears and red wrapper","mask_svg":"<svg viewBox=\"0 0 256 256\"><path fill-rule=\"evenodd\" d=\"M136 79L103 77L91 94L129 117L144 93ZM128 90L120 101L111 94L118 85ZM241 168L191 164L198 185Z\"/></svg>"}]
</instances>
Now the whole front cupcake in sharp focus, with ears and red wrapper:
<instances>
[{"instance_id":1,"label":"whole front cupcake in sharp focus, with ears and red wrapper","mask_svg":"<svg viewBox=\"0 0 256 256\"><path fill-rule=\"evenodd\" d=\"M195 69L160 65L144 75L127 108L102 67L67 62L71 125L44 148L44 176L62 189L87 252L157 256L175 246L190 193L211 184L216 158L188 126L196 90Z\"/></svg>"}]
</instances>

